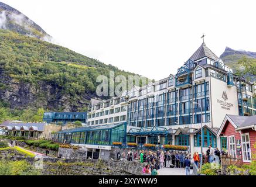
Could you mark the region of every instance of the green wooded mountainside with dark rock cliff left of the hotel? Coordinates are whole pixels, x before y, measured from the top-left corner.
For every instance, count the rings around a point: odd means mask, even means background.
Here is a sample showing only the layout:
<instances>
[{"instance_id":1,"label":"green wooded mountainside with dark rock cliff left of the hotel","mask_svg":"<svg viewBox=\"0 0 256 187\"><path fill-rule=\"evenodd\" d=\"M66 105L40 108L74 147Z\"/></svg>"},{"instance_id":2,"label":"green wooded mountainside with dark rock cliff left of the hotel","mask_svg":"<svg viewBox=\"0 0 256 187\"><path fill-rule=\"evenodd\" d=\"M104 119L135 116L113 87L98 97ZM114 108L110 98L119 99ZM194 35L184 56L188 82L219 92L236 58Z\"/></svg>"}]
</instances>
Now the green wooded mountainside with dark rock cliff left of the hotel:
<instances>
[{"instance_id":1,"label":"green wooded mountainside with dark rock cliff left of the hotel","mask_svg":"<svg viewBox=\"0 0 256 187\"><path fill-rule=\"evenodd\" d=\"M84 111L98 75L135 75L67 48L0 29L0 108Z\"/></svg>"}]
</instances>

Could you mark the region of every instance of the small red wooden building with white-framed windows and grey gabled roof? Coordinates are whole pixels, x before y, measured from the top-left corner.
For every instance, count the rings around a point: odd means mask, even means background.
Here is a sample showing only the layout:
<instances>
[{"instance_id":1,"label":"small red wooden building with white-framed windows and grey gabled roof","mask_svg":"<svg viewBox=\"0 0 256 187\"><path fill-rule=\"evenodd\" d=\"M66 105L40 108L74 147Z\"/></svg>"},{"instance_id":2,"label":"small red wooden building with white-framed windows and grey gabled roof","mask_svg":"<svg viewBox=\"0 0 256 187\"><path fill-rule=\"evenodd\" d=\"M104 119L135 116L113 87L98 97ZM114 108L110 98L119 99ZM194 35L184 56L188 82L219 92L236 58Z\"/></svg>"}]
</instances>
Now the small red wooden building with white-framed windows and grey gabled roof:
<instances>
[{"instance_id":1,"label":"small red wooden building with white-framed windows and grey gabled roof","mask_svg":"<svg viewBox=\"0 0 256 187\"><path fill-rule=\"evenodd\" d=\"M256 116L226 115L217 137L220 147L234 157L242 157L244 164L256 160Z\"/></svg>"}]
</instances>

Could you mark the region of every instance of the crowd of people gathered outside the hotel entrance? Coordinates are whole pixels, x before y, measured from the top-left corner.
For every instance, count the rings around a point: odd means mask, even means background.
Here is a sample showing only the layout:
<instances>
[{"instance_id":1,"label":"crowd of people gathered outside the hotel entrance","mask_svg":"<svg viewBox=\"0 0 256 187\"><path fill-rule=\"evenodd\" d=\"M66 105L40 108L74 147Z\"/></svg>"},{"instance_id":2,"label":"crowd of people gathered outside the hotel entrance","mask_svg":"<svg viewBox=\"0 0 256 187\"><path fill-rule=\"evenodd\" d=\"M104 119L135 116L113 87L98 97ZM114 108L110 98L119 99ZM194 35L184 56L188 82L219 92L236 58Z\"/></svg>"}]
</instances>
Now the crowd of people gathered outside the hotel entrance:
<instances>
[{"instance_id":1,"label":"crowd of people gathered outside the hotel entrance","mask_svg":"<svg viewBox=\"0 0 256 187\"><path fill-rule=\"evenodd\" d=\"M216 162L219 164L221 154L226 153L224 150L220 152L218 148L214 150L210 145L206 154L203 153L203 163ZM200 167L201 155L197 152L192 156L187 151L163 151L161 149L157 151L139 150L139 153L138 151L132 152L132 150L128 150L127 154L125 151L122 154L118 152L117 159L137 160L141 163L148 163L142 171L145 175L158 175L158 170L163 167L184 168L186 175L189 175L190 169L193 168L193 162L197 167Z\"/></svg>"}]
</instances>

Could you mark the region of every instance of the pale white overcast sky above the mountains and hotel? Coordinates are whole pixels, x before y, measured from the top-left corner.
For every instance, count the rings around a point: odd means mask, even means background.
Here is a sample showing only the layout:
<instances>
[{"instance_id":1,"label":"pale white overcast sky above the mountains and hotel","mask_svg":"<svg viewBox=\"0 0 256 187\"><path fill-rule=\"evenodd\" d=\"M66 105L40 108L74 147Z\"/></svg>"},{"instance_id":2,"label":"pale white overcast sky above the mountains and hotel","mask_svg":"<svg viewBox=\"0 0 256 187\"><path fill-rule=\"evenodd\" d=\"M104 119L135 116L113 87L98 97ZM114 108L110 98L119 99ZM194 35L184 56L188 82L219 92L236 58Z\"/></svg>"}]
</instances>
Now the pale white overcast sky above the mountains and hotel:
<instances>
[{"instance_id":1,"label":"pale white overcast sky above the mountains and hotel","mask_svg":"<svg viewBox=\"0 0 256 187\"><path fill-rule=\"evenodd\" d=\"M0 0L54 42L121 70L159 80L176 74L204 42L256 51L256 1Z\"/></svg>"}]
</instances>

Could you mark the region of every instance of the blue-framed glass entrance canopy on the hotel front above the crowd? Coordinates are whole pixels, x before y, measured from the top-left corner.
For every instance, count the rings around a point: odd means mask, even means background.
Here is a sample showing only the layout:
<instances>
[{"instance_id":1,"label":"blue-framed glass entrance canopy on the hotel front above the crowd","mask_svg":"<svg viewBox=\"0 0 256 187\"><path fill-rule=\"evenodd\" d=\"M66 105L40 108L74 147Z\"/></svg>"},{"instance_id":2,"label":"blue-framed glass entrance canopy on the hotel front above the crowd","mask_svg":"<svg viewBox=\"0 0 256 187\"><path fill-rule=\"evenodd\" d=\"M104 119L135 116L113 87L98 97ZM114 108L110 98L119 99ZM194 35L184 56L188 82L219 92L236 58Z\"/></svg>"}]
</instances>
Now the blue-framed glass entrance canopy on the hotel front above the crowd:
<instances>
[{"instance_id":1,"label":"blue-framed glass entrance canopy on the hotel front above the crowd","mask_svg":"<svg viewBox=\"0 0 256 187\"><path fill-rule=\"evenodd\" d=\"M168 135L168 130L165 127L141 127L141 129L131 128L128 134L135 136L166 136Z\"/></svg>"}]
</instances>

